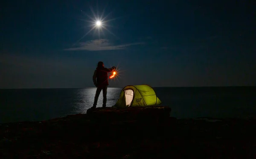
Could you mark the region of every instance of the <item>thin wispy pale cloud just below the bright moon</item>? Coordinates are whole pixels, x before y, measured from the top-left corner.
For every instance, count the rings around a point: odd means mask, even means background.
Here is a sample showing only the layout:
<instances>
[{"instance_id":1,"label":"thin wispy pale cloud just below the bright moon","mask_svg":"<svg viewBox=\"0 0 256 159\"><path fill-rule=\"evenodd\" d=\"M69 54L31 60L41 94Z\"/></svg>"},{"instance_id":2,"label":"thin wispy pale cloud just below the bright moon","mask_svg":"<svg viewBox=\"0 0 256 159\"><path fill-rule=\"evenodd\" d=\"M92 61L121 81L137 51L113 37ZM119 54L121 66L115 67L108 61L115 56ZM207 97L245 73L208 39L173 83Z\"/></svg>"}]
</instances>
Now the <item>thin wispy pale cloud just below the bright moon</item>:
<instances>
[{"instance_id":1,"label":"thin wispy pale cloud just below the bright moon","mask_svg":"<svg viewBox=\"0 0 256 159\"><path fill-rule=\"evenodd\" d=\"M127 46L140 45L140 44L145 44L145 43L141 42L141 43L128 43L128 44L123 44L123 45L112 45L106 39L98 39L98 40L90 40L90 41L87 41L87 42L84 42L84 43L79 43L77 47L64 49L64 50L66 50L66 51L119 50L119 49L125 49L125 47L127 47Z\"/></svg>"}]
</instances>

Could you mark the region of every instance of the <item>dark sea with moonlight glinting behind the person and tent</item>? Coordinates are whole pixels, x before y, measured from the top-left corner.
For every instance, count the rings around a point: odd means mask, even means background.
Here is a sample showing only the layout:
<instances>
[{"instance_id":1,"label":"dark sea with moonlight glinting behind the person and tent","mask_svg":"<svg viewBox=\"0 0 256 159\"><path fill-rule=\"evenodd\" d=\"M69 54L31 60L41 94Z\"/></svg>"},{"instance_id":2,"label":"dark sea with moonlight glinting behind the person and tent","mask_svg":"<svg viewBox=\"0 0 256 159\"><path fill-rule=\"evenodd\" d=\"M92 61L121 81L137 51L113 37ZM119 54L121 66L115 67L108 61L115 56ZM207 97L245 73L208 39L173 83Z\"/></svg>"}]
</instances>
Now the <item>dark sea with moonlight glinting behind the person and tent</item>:
<instances>
[{"instance_id":1,"label":"dark sea with moonlight glinting behind the person and tent","mask_svg":"<svg viewBox=\"0 0 256 159\"><path fill-rule=\"evenodd\" d=\"M256 87L153 87L170 116L185 118L251 118L256 116ZM108 88L107 107L122 88ZM0 123L42 121L86 113L96 88L0 90ZM102 107L99 96L97 107Z\"/></svg>"}]
</instances>

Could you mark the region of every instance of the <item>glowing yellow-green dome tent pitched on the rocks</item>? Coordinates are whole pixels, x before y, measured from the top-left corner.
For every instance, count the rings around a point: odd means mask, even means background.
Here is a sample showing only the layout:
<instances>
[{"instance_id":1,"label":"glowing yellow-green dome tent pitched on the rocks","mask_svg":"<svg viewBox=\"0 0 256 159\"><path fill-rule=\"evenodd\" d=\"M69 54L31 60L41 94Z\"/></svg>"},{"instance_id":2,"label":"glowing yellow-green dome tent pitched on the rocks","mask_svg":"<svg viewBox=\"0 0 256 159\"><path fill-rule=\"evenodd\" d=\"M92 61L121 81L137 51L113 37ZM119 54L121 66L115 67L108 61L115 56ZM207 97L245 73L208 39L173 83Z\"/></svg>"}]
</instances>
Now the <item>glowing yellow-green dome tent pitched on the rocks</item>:
<instances>
[{"instance_id":1,"label":"glowing yellow-green dome tent pitched on the rocks","mask_svg":"<svg viewBox=\"0 0 256 159\"><path fill-rule=\"evenodd\" d=\"M161 104L153 88L148 85L126 86L113 107L147 107Z\"/></svg>"}]
</instances>

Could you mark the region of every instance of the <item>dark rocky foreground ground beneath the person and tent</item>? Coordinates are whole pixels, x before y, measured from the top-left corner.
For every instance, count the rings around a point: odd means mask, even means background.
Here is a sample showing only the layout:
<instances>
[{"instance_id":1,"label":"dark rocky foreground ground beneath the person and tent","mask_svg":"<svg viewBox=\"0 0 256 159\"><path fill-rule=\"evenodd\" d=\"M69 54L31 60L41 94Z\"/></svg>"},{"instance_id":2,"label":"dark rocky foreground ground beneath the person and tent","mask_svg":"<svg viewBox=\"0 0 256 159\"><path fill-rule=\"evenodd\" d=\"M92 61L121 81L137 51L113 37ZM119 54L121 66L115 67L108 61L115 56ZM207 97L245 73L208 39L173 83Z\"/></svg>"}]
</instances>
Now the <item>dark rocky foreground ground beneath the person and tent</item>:
<instances>
[{"instance_id":1,"label":"dark rocky foreground ground beneath the person and tent","mask_svg":"<svg viewBox=\"0 0 256 159\"><path fill-rule=\"evenodd\" d=\"M0 159L256 159L256 120L174 119L169 109L97 108L0 125Z\"/></svg>"}]
</instances>

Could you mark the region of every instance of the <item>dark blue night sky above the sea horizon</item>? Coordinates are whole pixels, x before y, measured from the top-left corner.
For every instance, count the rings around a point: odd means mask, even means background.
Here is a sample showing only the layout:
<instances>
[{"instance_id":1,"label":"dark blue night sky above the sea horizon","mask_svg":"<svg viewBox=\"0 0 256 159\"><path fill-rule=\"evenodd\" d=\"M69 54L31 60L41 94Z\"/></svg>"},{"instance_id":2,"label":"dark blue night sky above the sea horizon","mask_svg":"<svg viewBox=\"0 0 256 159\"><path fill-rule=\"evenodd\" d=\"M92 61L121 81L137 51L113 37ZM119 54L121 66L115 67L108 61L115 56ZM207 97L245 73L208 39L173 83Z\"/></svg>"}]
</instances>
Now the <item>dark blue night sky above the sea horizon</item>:
<instances>
[{"instance_id":1,"label":"dark blue night sky above the sea horizon","mask_svg":"<svg viewBox=\"0 0 256 159\"><path fill-rule=\"evenodd\" d=\"M5 0L0 88L94 87L98 61L109 87L256 86L255 17L247 0Z\"/></svg>"}]
</instances>

